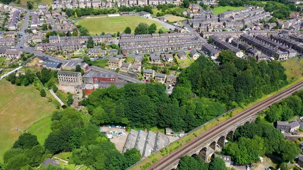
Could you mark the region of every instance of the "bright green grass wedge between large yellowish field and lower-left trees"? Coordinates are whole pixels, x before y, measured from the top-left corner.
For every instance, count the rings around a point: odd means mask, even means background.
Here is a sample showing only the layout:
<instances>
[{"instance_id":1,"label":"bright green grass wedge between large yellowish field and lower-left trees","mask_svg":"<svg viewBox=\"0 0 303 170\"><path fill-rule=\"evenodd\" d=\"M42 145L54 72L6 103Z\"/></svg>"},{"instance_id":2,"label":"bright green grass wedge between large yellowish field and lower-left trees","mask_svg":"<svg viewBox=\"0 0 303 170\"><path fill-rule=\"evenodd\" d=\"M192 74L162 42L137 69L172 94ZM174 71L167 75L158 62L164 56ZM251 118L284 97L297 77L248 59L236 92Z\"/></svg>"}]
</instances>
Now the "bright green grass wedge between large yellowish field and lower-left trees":
<instances>
[{"instance_id":1,"label":"bright green grass wedge between large yellowish field and lower-left trees","mask_svg":"<svg viewBox=\"0 0 303 170\"><path fill-rule=\"evenodd\" d=\"M36 135L39 143L44 144L45 139L51 132L50 125L51 117L48 117L30 126L27 132Z\"/></svg>"}]
</instances>

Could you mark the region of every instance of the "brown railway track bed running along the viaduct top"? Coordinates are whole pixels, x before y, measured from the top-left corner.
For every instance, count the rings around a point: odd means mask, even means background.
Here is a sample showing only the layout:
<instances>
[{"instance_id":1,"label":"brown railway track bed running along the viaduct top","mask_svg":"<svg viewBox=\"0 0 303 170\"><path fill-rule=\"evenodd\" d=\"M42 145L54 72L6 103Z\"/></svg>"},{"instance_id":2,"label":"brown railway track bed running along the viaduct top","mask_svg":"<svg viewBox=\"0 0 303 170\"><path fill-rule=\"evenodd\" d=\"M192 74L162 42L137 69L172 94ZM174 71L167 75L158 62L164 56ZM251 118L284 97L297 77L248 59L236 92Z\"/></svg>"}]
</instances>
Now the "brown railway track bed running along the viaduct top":
<instances>
[{"instance_id":1,"label":"brown railway track bed running along the viaduct top","mask_svg":"<svg viewBox=\"0 0 303 170\"><path fill-rule=\"evenodd\" d=\"M235 115L234 117L225 120L218 125L214 126L213 128L205 131L204 133L200 134L197 138L191 140L190 142L184 144L178 150L174 151L173 153L167 155L166 157L160 159L155 164L149 166L147 169L170 169L171 165L178 161L181 156L186 155L188 152L192 151L194 148L203 145L204 142L210 140L212 137L220 134L225 129L228 129L229 126L237 124L239 121L254 116L259 111L269 107L271 104L291 95L297 90L303 88L303 81L295 84L294 86L266 99L257 104L253 107L242 111L241 113Z\"/></svg>"}]
</instances>

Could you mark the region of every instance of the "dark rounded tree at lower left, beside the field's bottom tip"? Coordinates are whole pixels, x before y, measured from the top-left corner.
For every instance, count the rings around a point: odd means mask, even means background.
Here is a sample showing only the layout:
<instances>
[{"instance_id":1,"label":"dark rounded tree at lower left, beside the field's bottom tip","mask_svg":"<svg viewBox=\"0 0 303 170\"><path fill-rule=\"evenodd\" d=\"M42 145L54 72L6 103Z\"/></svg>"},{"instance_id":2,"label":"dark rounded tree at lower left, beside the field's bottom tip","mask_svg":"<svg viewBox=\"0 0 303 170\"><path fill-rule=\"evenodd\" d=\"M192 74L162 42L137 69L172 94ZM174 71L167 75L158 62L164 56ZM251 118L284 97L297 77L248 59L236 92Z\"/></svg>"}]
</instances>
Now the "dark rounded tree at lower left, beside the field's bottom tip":
<instances>
[{"instance_id":1,"label":"dark rounded tree at lower left, beside the field's bottom tip","mask_svg":"<svg viewBox=\"0 0 303 170\"><path fill-rule=\"evenodd\" d=\"M24 133L13 144L13 148L27 148L31 149L33 146L39 144L37 137L30 133Z\"/></svg>"}]
</instances>

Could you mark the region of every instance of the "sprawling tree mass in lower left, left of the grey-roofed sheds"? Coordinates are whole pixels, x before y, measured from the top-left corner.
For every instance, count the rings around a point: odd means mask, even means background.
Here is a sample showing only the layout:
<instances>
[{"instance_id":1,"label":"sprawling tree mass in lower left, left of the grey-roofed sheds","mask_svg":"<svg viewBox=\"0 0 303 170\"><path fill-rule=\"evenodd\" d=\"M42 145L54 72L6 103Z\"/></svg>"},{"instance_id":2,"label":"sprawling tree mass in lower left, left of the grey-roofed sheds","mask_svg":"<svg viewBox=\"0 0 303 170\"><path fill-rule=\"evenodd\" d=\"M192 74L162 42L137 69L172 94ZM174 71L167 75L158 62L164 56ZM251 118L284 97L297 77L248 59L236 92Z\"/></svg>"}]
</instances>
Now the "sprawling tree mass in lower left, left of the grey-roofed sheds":
<instances>
[{"instance_id":1,"label":"sprawling tree mass in lower left, left of the grey-roofed sheds","mask_svg":"<svg viewBox=\"0 0 303 170\"><path fill-rule=\"evenodd\" d=\"M71 163L94 169L126 169L141 158L135 148L121 154L115 144L99 132L97 124L72 108L53 113L51 130L44 147L36 136L21 135L4 155L4 169L32 169L44 159L64 151L72 151Z\"/></svg>"}]
</instances>

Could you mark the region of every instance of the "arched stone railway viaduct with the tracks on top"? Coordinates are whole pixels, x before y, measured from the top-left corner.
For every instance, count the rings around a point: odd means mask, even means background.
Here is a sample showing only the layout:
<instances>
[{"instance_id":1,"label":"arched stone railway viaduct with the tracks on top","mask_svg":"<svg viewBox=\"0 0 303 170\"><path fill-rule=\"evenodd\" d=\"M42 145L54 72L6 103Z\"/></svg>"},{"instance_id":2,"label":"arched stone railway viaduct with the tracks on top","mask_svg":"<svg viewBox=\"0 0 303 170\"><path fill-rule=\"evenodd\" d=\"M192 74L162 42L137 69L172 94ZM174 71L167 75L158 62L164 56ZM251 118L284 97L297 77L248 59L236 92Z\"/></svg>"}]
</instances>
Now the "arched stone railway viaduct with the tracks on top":
<instances>
[{"instance_id":1,"label":"arched stone railway viaduct with the tracks on top","mask_svg":"<svg viewBox=\"0 0 303 170\"><path fill-rule=\"evenodd\" d=\"M178 150L160 159L147 169L161 169L170 170L176 169L180 158L184 155L198 155L205 162L210 160L210 157L216 152L220 151L225 144L225 140L231 140L234 132L238 126L245 123L253 122L256 118L256 114L263 109L266 109L275 102L280 101L293 94L294 92L303 89L303 81L299 82L282 92L273 95L266 100L263 100L252 107L238 113L232 118L225 120L213 128L203 132L197 138L182 145Z\"/></svg>"}]
</instances>

